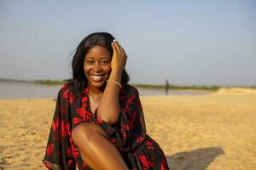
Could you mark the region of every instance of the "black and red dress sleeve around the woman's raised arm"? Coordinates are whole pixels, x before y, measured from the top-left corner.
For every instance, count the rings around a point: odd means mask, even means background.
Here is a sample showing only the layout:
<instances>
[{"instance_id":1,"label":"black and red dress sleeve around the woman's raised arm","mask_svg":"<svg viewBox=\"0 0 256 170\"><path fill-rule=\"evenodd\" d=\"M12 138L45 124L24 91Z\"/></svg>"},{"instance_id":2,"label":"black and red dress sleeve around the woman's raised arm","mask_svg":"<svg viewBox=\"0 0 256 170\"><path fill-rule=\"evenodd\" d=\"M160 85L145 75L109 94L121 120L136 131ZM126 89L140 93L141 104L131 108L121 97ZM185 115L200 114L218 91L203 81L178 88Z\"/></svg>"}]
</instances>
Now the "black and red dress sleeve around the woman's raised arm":
<instances>
[{"instance_id":1,"label":"black and red dress sleeve around the woman's raised arm","mask_svg":"<svg viewBox=\"0 0 256 170\"><path fill-rule=\"evenodd\" d=\"M119 150L135 150L146 137L143 108L137 88L123 89L119 95L119 109L119 122L110 125L97 116L96 121Z\"/></svg>"}]
</instances>

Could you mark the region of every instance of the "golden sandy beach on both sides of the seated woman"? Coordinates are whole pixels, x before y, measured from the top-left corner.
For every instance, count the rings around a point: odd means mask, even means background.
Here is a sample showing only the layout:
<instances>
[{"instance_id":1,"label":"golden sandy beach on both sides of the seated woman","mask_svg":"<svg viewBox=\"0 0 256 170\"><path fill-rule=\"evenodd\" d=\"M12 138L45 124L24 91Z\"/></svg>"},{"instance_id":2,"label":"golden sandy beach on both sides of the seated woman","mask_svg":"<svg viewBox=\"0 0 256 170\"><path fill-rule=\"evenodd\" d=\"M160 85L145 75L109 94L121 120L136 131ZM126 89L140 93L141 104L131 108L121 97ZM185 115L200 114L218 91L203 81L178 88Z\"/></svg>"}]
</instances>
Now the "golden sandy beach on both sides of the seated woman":
<instances>
[{"instance_id":1,"label":"golden sandy beach on both sides of the seated woman","mask_svg":"<svg viewBox=\"0 0 256 170\"><path fill-rule=\"evenodd\" d=\"M171 169L256 169L256 90L141 97ZM54 99L0 99L0 169L44 169Z\"/></svg>"}]
</instances>

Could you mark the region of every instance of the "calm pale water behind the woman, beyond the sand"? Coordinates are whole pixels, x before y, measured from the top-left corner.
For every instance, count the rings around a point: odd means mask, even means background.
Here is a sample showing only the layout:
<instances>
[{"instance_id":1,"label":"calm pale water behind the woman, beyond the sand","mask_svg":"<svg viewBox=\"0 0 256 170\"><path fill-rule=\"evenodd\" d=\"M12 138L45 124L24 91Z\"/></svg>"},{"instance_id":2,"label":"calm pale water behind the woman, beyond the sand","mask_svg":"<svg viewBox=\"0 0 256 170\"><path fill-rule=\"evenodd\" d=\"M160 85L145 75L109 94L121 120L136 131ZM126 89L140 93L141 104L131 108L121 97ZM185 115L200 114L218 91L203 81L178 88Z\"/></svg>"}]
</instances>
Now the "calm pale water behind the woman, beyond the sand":
<instances>
[{"instance_id":1,"label":"calm pale water behind the woman, beyond the sand","mask_svg":"<svg viewBox=\"0 0 256 170\"><path fill-rule=\"evenodd\" d=\"M0 82L0 99L14 98L56 98L62 85L42 85L29 82ZM138 88L140 95L165 95L165 89ZM169 90L169 95L209 94L200 91Z\"/></svg>"}]
</instances>

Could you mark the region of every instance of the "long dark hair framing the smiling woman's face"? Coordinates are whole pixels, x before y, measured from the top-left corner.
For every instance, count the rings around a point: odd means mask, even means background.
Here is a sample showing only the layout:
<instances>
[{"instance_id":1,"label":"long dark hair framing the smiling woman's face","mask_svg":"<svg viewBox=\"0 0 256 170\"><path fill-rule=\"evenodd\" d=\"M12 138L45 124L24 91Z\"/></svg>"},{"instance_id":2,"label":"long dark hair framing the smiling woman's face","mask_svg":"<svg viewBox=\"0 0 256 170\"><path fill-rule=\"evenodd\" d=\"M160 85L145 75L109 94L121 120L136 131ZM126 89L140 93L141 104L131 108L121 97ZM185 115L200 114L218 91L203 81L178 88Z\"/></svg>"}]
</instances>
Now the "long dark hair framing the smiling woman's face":
<instances>
[{"instance_id":1,"label":"long dark hair framing the smiling woman's face","mask_svg":"<svg viewBox=\"0 0 256 170\"><path fill-rule=\"evenodd\" d=\"M73 93L80 94L87 86L88 80L84 75L84 57L89 52L90 48L100 45L107 48L112 57L113 48L111 47L111 42L113 42L113 39L114 37L107 32L95 32L85 37L79 43L72 60L73 78L67 80ZM121 84L127 84L129 80L130 77L124 69L122 71Z\"/></svg>"}]
</instances>

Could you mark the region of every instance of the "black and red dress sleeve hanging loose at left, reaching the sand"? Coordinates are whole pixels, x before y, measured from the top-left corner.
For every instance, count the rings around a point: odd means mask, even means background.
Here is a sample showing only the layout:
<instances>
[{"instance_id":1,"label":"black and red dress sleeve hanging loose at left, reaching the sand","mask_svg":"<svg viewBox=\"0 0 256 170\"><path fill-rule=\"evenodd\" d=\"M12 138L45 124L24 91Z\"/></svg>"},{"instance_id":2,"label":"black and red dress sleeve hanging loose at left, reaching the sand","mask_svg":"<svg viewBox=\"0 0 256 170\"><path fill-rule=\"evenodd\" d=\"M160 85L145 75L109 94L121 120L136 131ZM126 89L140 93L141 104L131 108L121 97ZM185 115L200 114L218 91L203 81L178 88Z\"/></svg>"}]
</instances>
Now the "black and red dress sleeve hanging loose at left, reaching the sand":
<instances>
[{"instance_id":1,"label":"black and red dress sleeve hanging loose at left, reaching the sand","mask_svg":"<svg viewBox=\"0 0 256 170\"><path fill-rule=\"evenodd\" d=\"M49 139L46 146L44 165L48 169L73 170L76 169L75 160L69 140L68 103L63 98L61 90L55 105L55 113L49 130Z\"/></svg>"}]
</instances>

